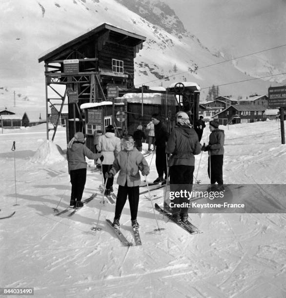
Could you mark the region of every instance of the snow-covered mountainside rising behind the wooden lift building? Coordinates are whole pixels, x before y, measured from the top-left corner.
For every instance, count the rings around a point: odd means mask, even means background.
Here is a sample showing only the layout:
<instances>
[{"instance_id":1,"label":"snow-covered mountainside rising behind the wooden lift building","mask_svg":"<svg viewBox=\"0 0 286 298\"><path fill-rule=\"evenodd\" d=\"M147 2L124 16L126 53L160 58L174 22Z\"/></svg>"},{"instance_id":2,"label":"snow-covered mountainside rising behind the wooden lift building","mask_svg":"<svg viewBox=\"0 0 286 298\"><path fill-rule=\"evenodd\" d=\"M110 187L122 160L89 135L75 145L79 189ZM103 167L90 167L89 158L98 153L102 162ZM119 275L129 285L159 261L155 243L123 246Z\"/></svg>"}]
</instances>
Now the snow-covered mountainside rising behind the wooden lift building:
<instances>
[{"instance_id":1,"label":"snow-covered mountainside rising behind the wooden lift building","mask_svg":"<svg viewBox=\"0 0 286 298\"><path fill-rule=\"evenodd\" d=\"M135 84L163 85L195 81L204 99L208 87L224 85L232 96L264 94L273 82L251 78L241 65L212 54L163 2L147 0L2 0L0 2L0 106L11 106L14 91L24 104L44 106L43 63L38 57L103 22L147 37L135 59ZM212 66L210 66L212 65ZM268 70L271 69L269 63ZM233 82L242 83L230 84ZM226 84L226 85L225 85ZM2 92L3 90L8 92Z\"/></svg>"}]
</instances>

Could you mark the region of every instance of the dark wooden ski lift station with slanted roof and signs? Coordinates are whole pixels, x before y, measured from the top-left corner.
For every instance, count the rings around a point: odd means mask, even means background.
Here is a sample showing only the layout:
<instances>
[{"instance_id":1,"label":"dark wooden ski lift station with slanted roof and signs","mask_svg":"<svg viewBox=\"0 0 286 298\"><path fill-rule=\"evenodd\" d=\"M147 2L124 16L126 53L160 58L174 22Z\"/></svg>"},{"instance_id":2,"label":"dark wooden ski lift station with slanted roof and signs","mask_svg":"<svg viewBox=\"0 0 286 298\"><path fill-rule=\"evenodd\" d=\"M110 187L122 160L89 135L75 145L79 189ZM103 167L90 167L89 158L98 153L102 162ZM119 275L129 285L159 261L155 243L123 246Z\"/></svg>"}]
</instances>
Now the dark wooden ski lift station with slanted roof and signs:
<instances>
[{"instance_id":1,"label":"dark wooden ski lift station with slanted roof and signs","mask_svg":"<svg viewBox=\"0 0 286 298\"><path fill-rule=\"evenodd\" d=\"M125 130L132 126L133 130L136 124L149 122L150 114L155 112L161 113L164 122L173 120L179 110L189 111L190 118L198 117L196 87L186 88L187 92L182 86L166 91L151 91L146 86L134 88L134 58L145 40L146 37L103 23L41 55L39 63L44 61L45 68L46 111L52 106L60 118L65 98L68 98L67 142L76 131L82 131L87 136L87 147L94 150L94 130L105 130L109 124ZM152 92L161 93L162 98L150 107L144 104L143 93ZM119 100L125 93L142 93L142 104L133 102L132 107L127 105L127 100ZM132 117L128 122L129 114ZM134 118L136 123L131 123ZM51 129L47 121L47 139L49 130L53 130L54 140L58 123L54 121Z\"/></svg>"}]
</instances>

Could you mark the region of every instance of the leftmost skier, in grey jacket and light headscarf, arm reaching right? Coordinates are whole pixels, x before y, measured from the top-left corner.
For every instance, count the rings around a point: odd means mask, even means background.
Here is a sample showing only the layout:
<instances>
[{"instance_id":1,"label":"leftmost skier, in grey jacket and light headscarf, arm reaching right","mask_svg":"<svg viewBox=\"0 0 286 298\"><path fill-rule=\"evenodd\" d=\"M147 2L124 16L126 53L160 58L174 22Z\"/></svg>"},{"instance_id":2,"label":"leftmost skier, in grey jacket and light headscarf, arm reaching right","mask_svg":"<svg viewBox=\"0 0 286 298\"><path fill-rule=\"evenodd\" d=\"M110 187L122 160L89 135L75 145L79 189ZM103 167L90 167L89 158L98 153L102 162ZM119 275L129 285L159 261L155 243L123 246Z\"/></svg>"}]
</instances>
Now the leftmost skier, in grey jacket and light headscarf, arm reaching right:
<instances>
[{"instance_id":1,"label":"leftmost skier, in grey jacket and light headscarf, arm reaching right","mask_svg":"<svg viewBox=\"0 0 286 298\"><path fill-rule=\"evenodd\" d=\"M67 144L66 159L68 162L68 173L72 185L70 207L82 207L82 193L86 182L85 156L89 159L100 158L101 153L92 153L85 145L85 138L82 132L76 132L75 136Z\"/></svg>"}]
</instances>

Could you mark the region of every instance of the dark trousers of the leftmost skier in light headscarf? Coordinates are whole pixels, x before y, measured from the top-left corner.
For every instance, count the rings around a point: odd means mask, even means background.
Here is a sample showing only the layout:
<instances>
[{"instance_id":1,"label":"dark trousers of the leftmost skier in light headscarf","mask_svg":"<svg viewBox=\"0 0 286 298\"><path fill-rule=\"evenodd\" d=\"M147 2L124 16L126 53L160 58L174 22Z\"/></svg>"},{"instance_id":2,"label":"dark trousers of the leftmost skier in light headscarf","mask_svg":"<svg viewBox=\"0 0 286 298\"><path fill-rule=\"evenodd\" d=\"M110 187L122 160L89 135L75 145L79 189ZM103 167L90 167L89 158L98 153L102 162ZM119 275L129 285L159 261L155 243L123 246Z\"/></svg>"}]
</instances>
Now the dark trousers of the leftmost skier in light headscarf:
<instances>
[{"instance_id":1,"label":"dark trousers of the leftmost skier in light headscarf","mask_svg":"<svg viewBox=\"0 0 286 298\"><path fill-rule=\"evenodd\" d=\"M72 184L71 200L81 201L86 182L86 168L70 171L70 182Z\"/></svg>"}]
</instances>

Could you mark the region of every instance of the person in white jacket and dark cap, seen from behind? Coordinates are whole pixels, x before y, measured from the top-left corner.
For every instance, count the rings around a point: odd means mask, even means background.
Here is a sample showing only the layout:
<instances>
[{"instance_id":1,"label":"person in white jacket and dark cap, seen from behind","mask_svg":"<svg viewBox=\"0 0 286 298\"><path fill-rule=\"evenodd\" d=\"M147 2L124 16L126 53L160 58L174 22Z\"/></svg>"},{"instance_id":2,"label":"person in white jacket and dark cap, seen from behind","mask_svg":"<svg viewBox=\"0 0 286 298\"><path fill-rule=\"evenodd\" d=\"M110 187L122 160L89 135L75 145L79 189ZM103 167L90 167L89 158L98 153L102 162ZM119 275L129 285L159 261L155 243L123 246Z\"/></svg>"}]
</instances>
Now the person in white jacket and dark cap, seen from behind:
<instances>
[{"instance_id":1,"label":"person in white jacket and dark cap, seen from behind","mask_svg":"<svg viewBox=\"0 0 286 298\"><path fill-rule=\"evenodd\" d=\"M115 157L121 150L120 138L115 136L115 130L112 125L108 125L105 129L105 134L99 137L96 148L104 156L102 162L102 175L105 183L106 178L104 175L111 169ZM111 192L113 192L113 178L108 179L104 194L110 195Z\"/></svg>"}]
</instances>

